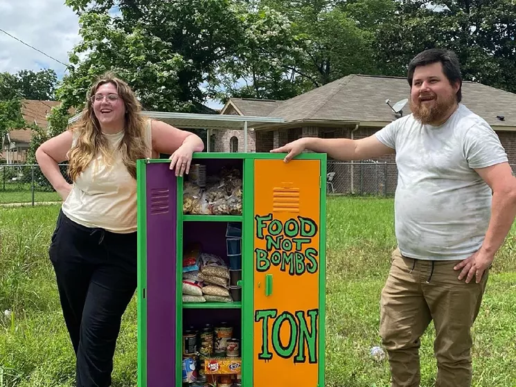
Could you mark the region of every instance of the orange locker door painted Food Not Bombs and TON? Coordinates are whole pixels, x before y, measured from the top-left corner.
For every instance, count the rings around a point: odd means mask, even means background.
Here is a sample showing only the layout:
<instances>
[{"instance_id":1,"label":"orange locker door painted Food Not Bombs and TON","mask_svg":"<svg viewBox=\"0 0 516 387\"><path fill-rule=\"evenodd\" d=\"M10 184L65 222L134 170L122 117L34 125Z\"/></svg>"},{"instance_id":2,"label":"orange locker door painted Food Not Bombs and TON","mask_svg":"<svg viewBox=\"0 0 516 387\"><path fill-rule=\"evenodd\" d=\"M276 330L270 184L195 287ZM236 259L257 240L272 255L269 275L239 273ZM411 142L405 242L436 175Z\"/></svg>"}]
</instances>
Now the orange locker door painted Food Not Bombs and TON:
<instances>
[{"instance_id":1,"label":"orange locker door painted Food Not Bombs and TON","mask_svg":"<svg viewBox=\"0 0 516 387\"><path fill-rule=\"evenodd\" d=\"M254 163L253 387L317 387L321 161Z\"/></svg>"}]
</instances>

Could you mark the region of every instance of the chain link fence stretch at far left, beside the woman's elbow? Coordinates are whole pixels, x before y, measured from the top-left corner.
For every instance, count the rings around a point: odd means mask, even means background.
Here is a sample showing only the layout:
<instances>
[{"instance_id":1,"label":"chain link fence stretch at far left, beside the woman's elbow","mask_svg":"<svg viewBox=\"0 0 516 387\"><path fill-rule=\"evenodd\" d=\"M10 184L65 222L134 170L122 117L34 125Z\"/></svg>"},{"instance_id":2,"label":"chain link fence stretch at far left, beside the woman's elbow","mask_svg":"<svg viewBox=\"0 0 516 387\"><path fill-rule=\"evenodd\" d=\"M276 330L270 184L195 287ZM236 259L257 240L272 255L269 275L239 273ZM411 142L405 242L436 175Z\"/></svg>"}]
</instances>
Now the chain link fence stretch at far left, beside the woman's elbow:
<instances>
[{"instance_id":1,"label":"chain link fence stretch at far left, beside the woman's elbow","mask_svg":"<svg viewBox=\"0 0 516 387\"><path fill-rule=\"evenodd\" d=\"M59 165L70 182L68 165ZM37 164L0 164L0 204L32 204L61 201Z\"/></svg>"}]
</instances>

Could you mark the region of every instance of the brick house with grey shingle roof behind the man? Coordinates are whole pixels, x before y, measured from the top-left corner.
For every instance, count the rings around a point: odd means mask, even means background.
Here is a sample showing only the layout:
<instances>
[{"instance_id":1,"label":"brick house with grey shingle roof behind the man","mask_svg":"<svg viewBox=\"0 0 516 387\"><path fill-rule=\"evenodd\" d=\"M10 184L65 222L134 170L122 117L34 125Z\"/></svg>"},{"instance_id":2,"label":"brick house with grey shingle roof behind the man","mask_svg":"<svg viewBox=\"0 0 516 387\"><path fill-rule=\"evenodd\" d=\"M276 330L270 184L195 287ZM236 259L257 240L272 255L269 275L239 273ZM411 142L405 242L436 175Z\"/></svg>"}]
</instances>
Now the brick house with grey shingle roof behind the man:
<instances>
[{"instance_id":1,"label":"brick house with grey shingle roof behind the man","mask_svg":"<svg viewBox=\"0 0 516 387\"><path fill-rule=\"evenodd\" d=\"M516 94L467 81L463 82L462 90L463 105L495 129L509 162L516 165ZM220 114L283 118L284 123L251 127L249 131L249 152L269 152L274 147L301 137L358 139L371 136L401 115L410 114L408 103L400 114L395 114L391 109L395 102L409 98L409 92L406 78L348 75L290 100L230 98ZM390 100L390 106L386 100ZM214 132L212 141L211 148L215 152L242 152L241 131ZM381 189L393 192L397 175L394 156L382 157L377 161L393 165L381 171L389 175L389 179L386 179L387 176L380 179L386 182ZM359 172L356 165L341 164L340 171L333 171L337 172L337 183L346 192L353 191L353 184L350 189L346 188L349 180L353 179L354 172L356 176L357 173L363 174L363 170ZM332 172L332 167L339 168L339 165L329 163L328 171Z\"/></svg>"}]
</instances>

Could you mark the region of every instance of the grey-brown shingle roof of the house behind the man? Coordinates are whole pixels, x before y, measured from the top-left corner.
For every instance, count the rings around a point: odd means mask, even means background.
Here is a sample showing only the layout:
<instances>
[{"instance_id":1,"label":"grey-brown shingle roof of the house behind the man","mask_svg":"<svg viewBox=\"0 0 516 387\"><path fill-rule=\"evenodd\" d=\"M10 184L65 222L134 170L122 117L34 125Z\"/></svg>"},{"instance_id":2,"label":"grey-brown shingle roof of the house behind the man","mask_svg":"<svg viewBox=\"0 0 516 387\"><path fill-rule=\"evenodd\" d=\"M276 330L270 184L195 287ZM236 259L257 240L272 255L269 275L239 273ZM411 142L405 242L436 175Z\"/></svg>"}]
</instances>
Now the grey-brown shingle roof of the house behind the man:
<instances>
[{"instance_id":1,"label":"grey-brown shingle roof of the house behind the man","mask_svg":"<svg viewBox=\"0 0 516 387\"><path fill-rule=\"evenodd\" d=\"M516 127L516 94L477 82L463 82L462 103L492 127ZM382 126L395 120L391 106L409 98L407 78L348 75L285 101L253 100L256 115L284 118L286 122L368 123ZM240 98L231 98L240 111L247 108ZM276 102L277 107L270 109ZM410 114L407 104L403 115ZM497 116L504 116L501 121Z\"/></svg>"}]
</instances>

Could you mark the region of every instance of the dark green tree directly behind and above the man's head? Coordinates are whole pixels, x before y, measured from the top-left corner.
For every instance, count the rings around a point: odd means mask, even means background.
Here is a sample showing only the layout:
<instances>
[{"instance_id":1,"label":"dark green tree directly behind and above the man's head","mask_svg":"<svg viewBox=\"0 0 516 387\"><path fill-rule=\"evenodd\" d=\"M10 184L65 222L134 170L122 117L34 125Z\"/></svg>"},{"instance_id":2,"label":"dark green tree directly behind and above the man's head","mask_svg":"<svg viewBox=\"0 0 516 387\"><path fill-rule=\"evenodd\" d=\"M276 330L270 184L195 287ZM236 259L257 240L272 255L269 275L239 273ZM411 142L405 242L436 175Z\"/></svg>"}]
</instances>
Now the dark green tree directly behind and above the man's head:
<instances>
[{"instance_id":1,"label":"dark green tree directly behind and above the man's head","mask_svg":"<svg viewBox=\"0 0 516 387\"><path fill-rule=\"evenodd\" d=\"M516 91L516 8L512 0L404 0L378 28L377 61L387 75L406 75L427 48L459 56L465 80Z\"/></svg>"}]
</instances>

